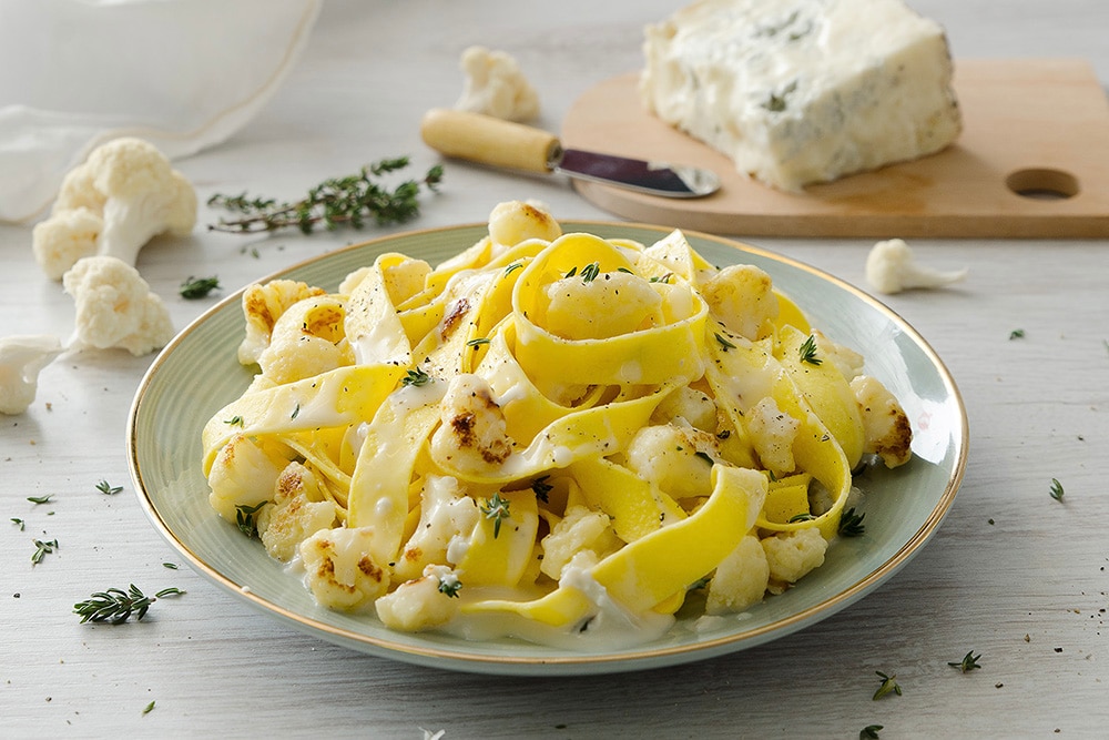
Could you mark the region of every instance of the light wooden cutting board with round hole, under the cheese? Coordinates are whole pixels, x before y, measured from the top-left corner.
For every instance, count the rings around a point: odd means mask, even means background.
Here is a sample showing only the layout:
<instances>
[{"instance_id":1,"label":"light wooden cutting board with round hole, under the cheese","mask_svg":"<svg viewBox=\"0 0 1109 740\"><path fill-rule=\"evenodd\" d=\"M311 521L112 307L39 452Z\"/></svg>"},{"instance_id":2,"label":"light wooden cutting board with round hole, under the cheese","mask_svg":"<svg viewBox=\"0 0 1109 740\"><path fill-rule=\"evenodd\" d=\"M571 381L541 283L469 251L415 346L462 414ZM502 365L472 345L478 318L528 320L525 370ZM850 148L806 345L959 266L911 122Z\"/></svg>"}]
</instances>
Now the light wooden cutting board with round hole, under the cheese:
<instances>
[{"instance_id":1,"label":"light wooden cutting board with round hole, under the cheese","mask_svg":"<svg viewBox=\"0 0 1109 740\"><path fill-rule=\"evenodd\" d=\"M670 200L574 181L587 200L625 219L761 236L1109 237L1109 101L1085 61L956 62L964 131L954 145L797 194L746 179L647 113L637 79L587 91L562 143L706 166L722 187Z\"/></svg>"}]
</instances>

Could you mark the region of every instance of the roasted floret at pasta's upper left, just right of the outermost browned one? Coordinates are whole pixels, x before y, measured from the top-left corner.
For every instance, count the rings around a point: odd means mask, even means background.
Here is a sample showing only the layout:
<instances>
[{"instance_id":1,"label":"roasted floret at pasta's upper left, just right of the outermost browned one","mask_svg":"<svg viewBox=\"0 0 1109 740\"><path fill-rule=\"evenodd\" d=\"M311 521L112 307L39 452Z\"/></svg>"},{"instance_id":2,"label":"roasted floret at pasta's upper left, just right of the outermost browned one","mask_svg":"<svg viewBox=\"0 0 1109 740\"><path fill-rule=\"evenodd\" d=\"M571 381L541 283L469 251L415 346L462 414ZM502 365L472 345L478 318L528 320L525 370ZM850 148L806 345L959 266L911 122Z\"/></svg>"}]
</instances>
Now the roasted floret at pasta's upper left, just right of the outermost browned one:
<instances>
[{"instance_id":1,"label":"roasted floret at pasta's upper left, just right of the outermost browned one","mask_svg":"<svg viewBox=\"0 0 1109 740\"><path fill-rule=\"evenodd\" d=\"M344 334L346 310L334 296L299 301L281 315L269 345L258 355L263 375L277 384L292 383L354 364Z\"/></svg>"}]
</instances>

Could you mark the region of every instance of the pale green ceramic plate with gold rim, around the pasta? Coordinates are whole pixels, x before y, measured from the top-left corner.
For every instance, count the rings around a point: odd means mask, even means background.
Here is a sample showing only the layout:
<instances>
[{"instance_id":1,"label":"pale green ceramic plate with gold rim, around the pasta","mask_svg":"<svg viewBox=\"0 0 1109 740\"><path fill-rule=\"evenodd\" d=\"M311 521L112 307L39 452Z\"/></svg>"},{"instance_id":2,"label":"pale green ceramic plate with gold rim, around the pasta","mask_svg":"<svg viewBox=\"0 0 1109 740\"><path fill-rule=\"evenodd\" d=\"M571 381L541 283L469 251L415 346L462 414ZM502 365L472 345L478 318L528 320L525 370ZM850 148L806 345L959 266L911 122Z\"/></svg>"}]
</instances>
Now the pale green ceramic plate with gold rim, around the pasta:
<instances>
[{"instance_id":1,"label":"pale green ceramic plate with gold rim, around the pasta","mask_svg":"<svg viewBox=\"0 0 1109 740\"><path fill-rule=\"evenodd\" d=\"M566 223L563 229L644 244L669 231L593 222ZM485 225L467 225L386 236L309 260L269 278L289 277L336 290L347 273L372 264L384 252L437 264L485 233ZM762 267L814 326L862 352L866 372L901 399L915 434L914 459L908 465L895 470L874 466L858 483L866 493L865 535L838 539L821 568L742 616L714 619L708 626L702 622L699 628L695 616L680 618L667 635L648 645L568 652L513 639L471 642L446 635L395 632L372 616L318 607L296 575L271 559L257 540L243 537L216 516L207 503L201 429L251 381L251 372L235 355L244 331L241 294L228 296L181 332L139 387L129 418L128 448L142 506L194 569L246 605L355 650L439 668L541 676L637 670L742 650L825 619L891 578L936 531L966 466L966 410L950 375L925 341L865 293L769 252L714 236L686 235L714 264Z\"/></svg>"}]
</instances>

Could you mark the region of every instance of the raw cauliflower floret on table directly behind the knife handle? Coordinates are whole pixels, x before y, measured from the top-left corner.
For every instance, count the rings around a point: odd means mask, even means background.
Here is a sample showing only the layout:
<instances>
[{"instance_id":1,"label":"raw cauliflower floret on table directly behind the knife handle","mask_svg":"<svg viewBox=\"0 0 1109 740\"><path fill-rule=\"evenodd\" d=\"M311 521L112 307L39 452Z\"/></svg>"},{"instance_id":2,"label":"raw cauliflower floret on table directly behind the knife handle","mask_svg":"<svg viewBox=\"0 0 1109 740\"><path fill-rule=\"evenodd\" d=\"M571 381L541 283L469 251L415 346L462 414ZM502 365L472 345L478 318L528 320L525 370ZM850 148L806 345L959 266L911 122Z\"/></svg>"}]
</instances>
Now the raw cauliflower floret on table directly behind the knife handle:
<instances>
[{"instance_id":1,"label":"raw cauliflower floret on table directly behind the knife handle","mask_svg":"<svg viewBox=\"0 0 1109 740\"><path fill-rule=\"evenodd\" d=\"M531 121L539 115L539 95L507 52L469 47L462 52L466 74L455 108L506 121Z\"/></svg>"}]
</instances>

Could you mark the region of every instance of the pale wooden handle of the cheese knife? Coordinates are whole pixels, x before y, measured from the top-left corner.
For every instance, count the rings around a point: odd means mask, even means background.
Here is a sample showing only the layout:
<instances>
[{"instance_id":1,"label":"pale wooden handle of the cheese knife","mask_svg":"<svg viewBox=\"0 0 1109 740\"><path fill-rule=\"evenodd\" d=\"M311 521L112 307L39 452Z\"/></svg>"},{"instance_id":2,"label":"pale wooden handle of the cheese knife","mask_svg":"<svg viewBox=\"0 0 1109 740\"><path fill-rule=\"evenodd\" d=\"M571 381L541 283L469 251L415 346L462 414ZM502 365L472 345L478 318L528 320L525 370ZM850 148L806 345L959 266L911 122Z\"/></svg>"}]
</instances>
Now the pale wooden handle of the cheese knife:
<instances>
[{"instance_id":1,"label":"pale wooden handle of the cheese knife","mask_svg":"<svg viewBox=\"0 0 1109 740\"><path fill-rule=\"evenodd\" d=\"M420 135L447 156L527 172L550 172L562 152L558 138L540 129L442 108L424 115Z\"/></svg>"}]
</instances>

